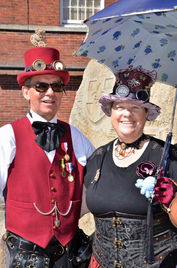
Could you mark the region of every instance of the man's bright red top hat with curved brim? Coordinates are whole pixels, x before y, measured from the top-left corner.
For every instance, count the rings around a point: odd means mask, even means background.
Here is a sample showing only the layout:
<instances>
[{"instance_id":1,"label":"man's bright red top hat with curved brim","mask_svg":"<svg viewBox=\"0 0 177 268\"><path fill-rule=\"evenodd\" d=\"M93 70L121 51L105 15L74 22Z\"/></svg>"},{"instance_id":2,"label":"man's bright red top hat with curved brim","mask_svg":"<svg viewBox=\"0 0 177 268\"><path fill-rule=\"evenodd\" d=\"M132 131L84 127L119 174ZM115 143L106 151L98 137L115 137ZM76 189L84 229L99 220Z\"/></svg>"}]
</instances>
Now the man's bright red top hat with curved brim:
<instances>
[{"instance_id":1,"label":"man's bright red top hat with curved brim","mask_svg":"<svg viewBox=\"0 0 177 268\"><path fill-rule=\"evenodd\" d=\"M20 86L24 85L24 82L26 79L29 77L33 77L36 75L45 75L45 74L53 74L53 75L58 75L59 77L62 78L63 83L66 85L67 82L69 81L69 72L64 70L53 70L52 66L47 66L51 65L53 62L56 60L60 60L60 53L57 49L54 49L52 47L34 47L31 49L28 49L25 54L24 54L24 59L25 59L25 72L18 74L17 76L17 81ZM41 60L39 61L39 65L46 64L44 70L36 70L36 68L33 68L34 62L36 60ZM44 62L44 63L43 63ZM40 69L40 68L39 68Z\"/></svg>"}]
</instances>

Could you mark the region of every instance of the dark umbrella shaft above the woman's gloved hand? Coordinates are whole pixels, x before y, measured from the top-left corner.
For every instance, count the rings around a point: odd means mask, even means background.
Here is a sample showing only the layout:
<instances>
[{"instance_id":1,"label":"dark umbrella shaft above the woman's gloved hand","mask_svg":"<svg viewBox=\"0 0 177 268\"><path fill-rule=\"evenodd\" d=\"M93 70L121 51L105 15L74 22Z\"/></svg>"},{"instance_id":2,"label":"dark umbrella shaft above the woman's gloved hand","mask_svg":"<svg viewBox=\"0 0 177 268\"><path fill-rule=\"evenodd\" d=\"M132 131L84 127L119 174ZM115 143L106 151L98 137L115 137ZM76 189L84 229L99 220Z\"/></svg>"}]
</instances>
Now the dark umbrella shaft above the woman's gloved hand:
<instances>
[{"instance_id":1,"label":"dark umbrella shaft above the woman's gloved hand","mask_svg":"<svg viewBox=\"0 0 177 268\"><path fill-rule=\"evenodd\" d=\"M176 107L176 99L177 99L177 86L176 86L176 94L175 94L175 100L174 100L174 106L173 106L171 128L170 128L170 133L168 135L167 148L166 148L166 152L165 152L165 161L164 161L164 165L163 165L162 177L164 177L166 175L166 171L167 171L167 164L168 164L170 145L171 145L171 138L172 138L173 120L174 120L175 107Z\"/></svg>"}]
</instances>

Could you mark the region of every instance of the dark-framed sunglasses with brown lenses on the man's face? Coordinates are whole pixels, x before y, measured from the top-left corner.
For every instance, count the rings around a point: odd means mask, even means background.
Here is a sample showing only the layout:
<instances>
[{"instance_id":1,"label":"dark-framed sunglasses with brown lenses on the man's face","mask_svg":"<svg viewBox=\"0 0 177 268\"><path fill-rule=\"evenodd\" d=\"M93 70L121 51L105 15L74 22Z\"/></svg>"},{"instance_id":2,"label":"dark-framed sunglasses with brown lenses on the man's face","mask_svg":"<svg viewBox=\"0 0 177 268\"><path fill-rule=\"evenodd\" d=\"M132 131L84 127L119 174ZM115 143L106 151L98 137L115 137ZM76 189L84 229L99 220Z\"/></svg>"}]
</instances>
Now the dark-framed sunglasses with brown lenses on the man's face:
<instances>
[{"instance_id":1,"label":"dark-framed sunglasses with brown lenses on the man's face","mask_svg":"<svg viewBox=\"0 0 177 268\"><path fill-rule=\"evenodd\" d=\"M64 91L64 84L62 83L37 83L33 84L35 86L35 89L37 92L46 92L48 91L49 86L51 85L54 92L62 92ZM32 85L29 85L28 87L31 87ZM64 91L65 92L65 91Z\"/></svg>"}]
</instances>

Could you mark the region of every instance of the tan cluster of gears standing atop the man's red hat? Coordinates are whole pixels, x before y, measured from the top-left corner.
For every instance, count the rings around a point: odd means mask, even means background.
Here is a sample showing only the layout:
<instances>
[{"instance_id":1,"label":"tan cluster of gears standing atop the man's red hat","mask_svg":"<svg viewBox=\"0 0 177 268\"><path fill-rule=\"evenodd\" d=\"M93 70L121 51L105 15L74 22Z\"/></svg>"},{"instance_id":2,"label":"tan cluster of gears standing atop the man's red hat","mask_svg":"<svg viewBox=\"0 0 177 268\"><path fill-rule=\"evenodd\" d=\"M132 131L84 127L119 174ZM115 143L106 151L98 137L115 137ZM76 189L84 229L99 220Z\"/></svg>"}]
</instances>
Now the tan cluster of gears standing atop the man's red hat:
<instances>
[{"instance_id":1,"label":"tan cluster of gears standing atop the man's red hat","mask_svg":"<svg viewBox=\"0 0 177 268\"><path fill-rule=\"evenodd\" d=\"M31 43L34 46L46 46L47 45L47 39L44 38L45 35L45 29L42 27L37 27L35 29L35 34L31 35Z\"/></svg>"}]
</instances>

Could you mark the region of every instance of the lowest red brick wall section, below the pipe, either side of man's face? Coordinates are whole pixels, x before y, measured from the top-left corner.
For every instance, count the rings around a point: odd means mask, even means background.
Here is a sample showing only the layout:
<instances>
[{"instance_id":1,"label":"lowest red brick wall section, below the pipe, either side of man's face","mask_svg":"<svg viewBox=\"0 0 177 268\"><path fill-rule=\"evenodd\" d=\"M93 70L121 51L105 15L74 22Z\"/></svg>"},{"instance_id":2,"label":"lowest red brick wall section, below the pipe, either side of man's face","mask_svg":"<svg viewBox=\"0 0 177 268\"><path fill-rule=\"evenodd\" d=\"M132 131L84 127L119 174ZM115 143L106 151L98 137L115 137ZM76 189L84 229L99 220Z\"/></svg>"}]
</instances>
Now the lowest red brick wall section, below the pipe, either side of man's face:
<instances>
[{"instance_id":1,"label":"lowest red brick wall section, below the pipe, either side of man's face","mask_svg":"<svg viewBox=\"0 0 177 268\"><path fill-rule=\"evenodd\" d=\"M10 81L10 86L8 87L8 82L1 81L0 76L0 127L8 124L15 119L18 119L24 116L29 112L29 103L24 99L20 86L17 83L16 76L8 76ZM5 77L6 79L6 77ZM3 79L2 79L3 80ZM11 83L12 81L12 83ZM74 77L71 76L69 83L66 86L66 94L63 94L61 106L59 112L57 113L57 117L65 122L69 122L69 116L71 113L71 109L74 104L75 96L77 89L79 88L82 82L82 75ZM14 86L12 90L12 85ZM68 90L70 88L71 90Z\"/></svg>"}]
</instances>

